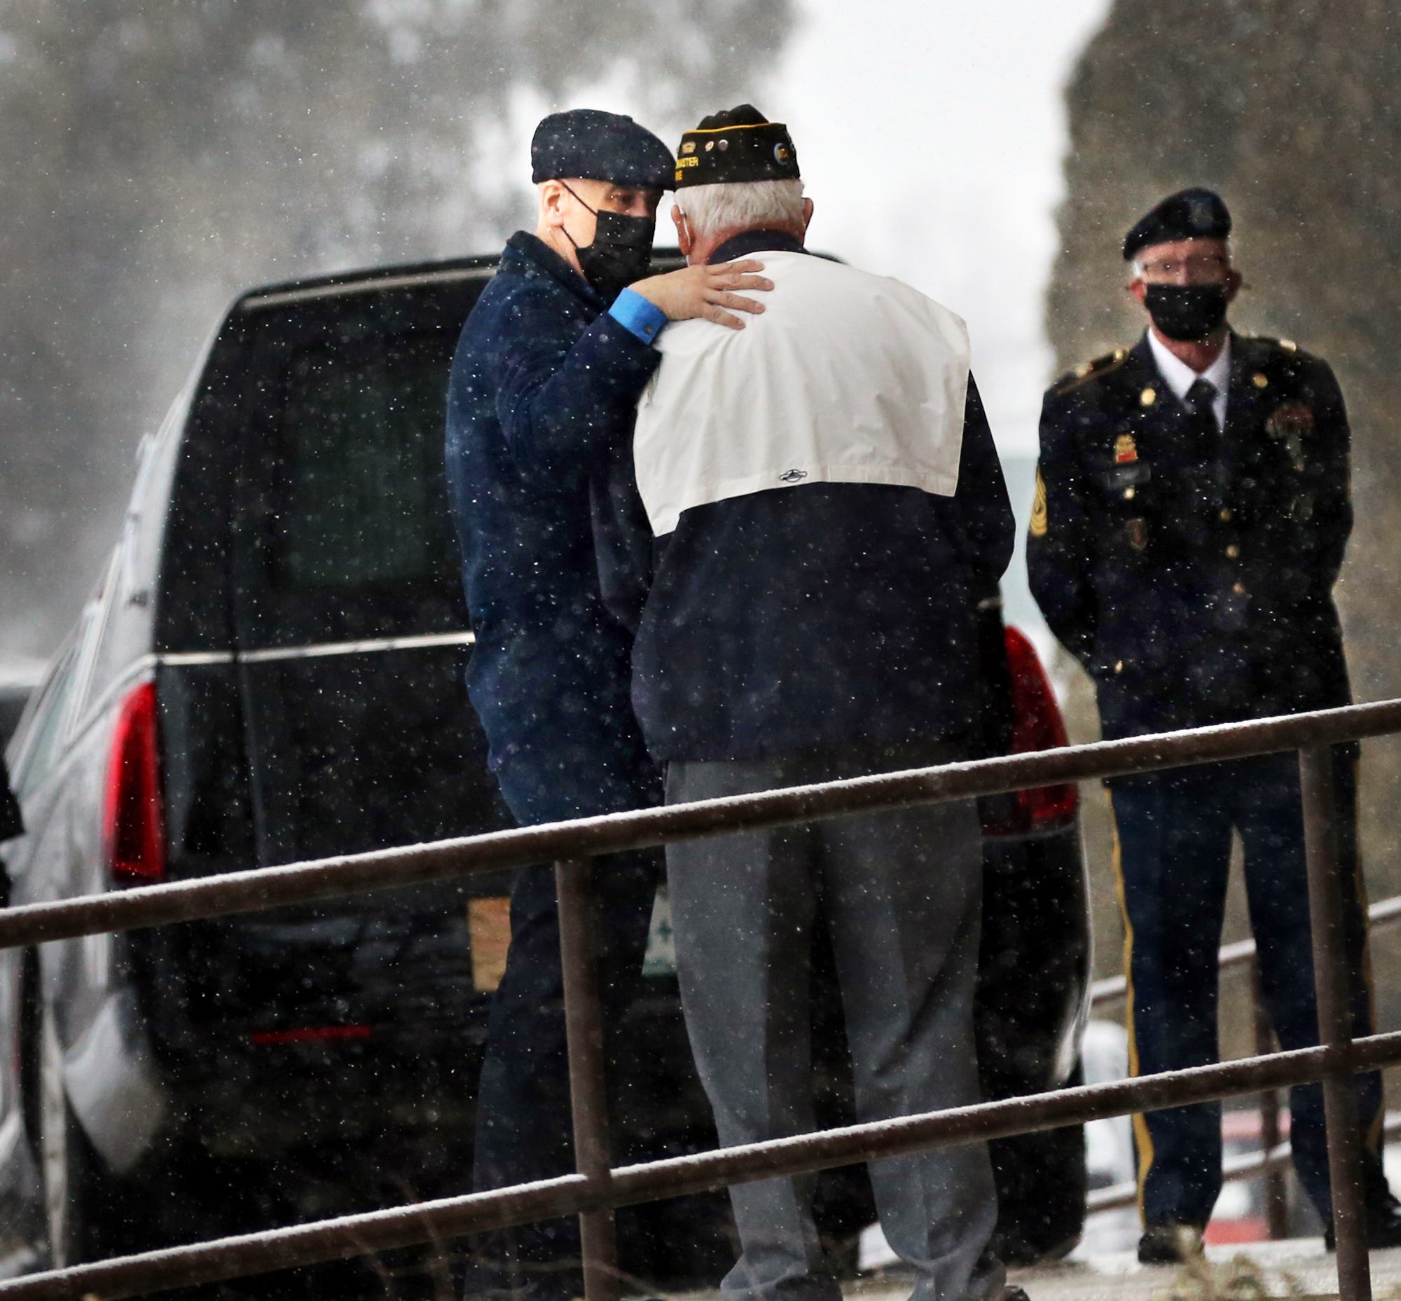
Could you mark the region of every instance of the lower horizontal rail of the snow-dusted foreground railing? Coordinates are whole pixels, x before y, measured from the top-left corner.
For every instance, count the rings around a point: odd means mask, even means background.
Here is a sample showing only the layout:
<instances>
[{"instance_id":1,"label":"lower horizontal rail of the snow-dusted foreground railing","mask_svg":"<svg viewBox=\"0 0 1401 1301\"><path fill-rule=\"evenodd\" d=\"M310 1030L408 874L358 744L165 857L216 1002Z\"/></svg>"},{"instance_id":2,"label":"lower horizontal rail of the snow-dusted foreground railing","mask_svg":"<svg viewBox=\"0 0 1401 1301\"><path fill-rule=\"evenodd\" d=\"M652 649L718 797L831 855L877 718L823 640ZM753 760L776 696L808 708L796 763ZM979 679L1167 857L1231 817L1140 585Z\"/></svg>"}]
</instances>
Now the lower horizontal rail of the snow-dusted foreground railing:
<instances>
[{"instance_id":1,"label":"lower horizontal rail of the snow-dusted foreground railing","mask_svg":"<svg viewBox=\"0 0 1401 1301\"><path fill-rule=\"evenodd\" d=\"M119 1301L174 1287L220 1283L440 1242L535 1220L661 1201L778 1175L1059 1129L1126 1112L1210 1102L1261 1088L1303 1084L1339 1071L1370 1071L1397 1063L1401 1063L1401 1032L1373 1035L1353 1040L1345 1050L1316 1047L1245 1057L1217 1065L628 1165L614 1169L605 1185L591 1185L584 1175L565 1175L493 1193L446 1197L77 1265L0 1283L0 1301L84 1301L88 1297Z\"/></svg>"}]
</instances>

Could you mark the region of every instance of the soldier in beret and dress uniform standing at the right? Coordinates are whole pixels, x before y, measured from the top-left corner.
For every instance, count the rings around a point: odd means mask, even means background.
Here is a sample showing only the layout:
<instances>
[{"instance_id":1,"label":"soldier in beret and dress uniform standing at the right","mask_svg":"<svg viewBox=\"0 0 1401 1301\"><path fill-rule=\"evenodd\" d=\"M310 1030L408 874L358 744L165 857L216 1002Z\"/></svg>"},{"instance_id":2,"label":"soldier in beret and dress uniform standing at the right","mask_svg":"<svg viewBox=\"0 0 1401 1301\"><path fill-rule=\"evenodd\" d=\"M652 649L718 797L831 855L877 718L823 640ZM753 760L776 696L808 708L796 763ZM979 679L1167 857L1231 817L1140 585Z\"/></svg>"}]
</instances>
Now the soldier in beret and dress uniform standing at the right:
<instances>
[{"instance_id":1,"label":"soldier in beret and dress uniform standing at the right","mask_svg":"<svg viewBox=\"0 0 1401 1301\"><path fill-rule=\"evenodd\" d=\"M1332 601L1352 529L1332 370L1230 329L1230 213L1185 189L1128 233L1149 327L1045 395L1027 565L1051 629L1093 677L1107 739L1351 702ZM1335 749L1353 1029L1372 1030L1356 848L1356 746ZM1114 778L1133 1074L1217 1057L1216 951L1231 833L1279 1042L1317 1043L1299 770L1292 753ZM1381 1079L1358 1077L1367 1238L1401 1244L1379 1155ZM1323 1091L1292 1091L1293 1158L1331 1244ZM1199 1249L1222 1186L1219 1103L1136 1116L1139 1259Z\"/></svg>"}]
</instances>

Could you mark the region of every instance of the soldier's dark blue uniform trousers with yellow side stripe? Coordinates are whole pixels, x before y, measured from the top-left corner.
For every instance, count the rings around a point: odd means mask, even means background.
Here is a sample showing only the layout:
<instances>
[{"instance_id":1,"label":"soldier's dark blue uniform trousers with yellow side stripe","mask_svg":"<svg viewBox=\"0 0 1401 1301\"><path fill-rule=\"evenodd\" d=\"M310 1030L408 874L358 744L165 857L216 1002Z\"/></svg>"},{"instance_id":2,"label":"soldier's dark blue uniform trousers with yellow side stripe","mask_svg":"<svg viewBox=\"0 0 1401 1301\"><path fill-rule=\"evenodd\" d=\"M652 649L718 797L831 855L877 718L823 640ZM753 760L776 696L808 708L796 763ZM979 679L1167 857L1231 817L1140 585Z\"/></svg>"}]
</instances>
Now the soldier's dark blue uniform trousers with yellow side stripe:
<instances>
[{"instance_id":1,"label":"soldier's dark blue uniform trousers with yellow side stripe","mask_svg":"<svg viewBox=\"0 0 1401 1301\"><path fill-rule=\"evenodd\" d=\"M1372 1033L1366 894L1358 861L1356 747L1334 749L1337 830L1355 1035ZM1216 953L1231 833L1244 850L1245 896L1265 1008L1285 1049L1318 1042L1299 758L1268 754L1111 782L1125 969L1129 1068L1149 1075L1217 1060ZM1369 1199L1386 1194L1379 1155L1381 1077L1356 1077ZM1299 1179L1331 1220L1323 1087L1289 1096ZM1146 1225L1203 1228L1222 1187L1220 1103L1133 1117Z\"/></svg>"}]
</instances>

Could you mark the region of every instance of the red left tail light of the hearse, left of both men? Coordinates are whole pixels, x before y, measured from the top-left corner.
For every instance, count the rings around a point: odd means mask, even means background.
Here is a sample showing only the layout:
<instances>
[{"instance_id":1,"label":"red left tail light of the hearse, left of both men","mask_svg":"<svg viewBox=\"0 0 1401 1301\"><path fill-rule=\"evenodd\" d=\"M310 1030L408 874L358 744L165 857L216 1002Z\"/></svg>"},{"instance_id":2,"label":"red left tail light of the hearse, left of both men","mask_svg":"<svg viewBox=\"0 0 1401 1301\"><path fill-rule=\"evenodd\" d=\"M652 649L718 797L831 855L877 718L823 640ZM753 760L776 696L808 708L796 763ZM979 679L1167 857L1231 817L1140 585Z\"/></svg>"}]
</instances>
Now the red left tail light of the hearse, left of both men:
<instances>
[{"instance_id":1,"label":"red left tail light of the hearse, left of both men","mask_svg":"<svg viewBox=\"0 0 1401 1301\"><path fill-rule=\"evenodd\" d=\"M123 701L106 770L106 847L112 880L150 885L165 876L156 683L142 683Z\"/></svg>"}]
</instances>

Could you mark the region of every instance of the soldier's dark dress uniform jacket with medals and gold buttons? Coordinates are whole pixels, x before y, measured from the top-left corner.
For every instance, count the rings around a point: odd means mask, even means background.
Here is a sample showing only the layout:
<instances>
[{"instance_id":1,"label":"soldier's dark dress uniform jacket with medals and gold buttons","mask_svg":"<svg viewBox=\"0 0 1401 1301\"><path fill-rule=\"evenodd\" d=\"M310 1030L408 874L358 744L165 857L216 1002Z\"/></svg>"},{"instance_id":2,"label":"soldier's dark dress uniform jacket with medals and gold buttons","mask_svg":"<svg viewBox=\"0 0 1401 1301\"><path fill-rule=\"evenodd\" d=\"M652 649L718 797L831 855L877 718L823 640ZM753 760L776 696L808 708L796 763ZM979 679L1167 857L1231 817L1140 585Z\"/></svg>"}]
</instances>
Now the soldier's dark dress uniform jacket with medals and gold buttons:
<instances>
[{"instance_id":1,"label":"soldier's dark dress uniform jacket with medals and gold buttons","mask_svg":"<svg viewBox=\"0 0 1401 1301\"><path fill-rule=\"evenodd\" d=\"M1226 428L1202 428L1146 335L1045 395L1028 576L1094 679L1105 737L1351 700L1332 601L1349 432L1332 370L1233 334Z\"/></svg>"}]
</instances>

